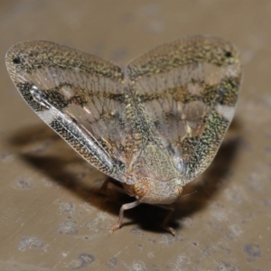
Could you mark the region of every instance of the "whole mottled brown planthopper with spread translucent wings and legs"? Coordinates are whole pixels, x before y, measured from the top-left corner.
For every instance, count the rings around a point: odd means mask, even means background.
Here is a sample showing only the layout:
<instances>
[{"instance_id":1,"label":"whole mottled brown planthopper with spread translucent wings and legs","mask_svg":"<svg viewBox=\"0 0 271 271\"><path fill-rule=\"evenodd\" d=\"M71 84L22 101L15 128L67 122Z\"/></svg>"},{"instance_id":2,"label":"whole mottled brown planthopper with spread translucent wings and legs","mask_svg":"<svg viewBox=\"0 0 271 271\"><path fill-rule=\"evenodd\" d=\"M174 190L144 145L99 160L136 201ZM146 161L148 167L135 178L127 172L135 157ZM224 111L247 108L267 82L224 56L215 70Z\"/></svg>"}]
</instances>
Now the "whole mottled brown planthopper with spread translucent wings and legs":
<instances>
[{"instance_id":1,"label":"whole mottled brown planthopper with spread translucent wings and legs","mask_svg":"<svg viewBox=\"0 0 271 271\"><path fill-rule=\"evenodd\" d=\"M241 65L220 38L186 36L125 70L53 42L21 42L7 70L26 103L140 203L171 206L210 164L234 115ZM170 209L169 207L168 209ZM164 229L173 234L174 229Z\"/></svg>"}]
</instances>

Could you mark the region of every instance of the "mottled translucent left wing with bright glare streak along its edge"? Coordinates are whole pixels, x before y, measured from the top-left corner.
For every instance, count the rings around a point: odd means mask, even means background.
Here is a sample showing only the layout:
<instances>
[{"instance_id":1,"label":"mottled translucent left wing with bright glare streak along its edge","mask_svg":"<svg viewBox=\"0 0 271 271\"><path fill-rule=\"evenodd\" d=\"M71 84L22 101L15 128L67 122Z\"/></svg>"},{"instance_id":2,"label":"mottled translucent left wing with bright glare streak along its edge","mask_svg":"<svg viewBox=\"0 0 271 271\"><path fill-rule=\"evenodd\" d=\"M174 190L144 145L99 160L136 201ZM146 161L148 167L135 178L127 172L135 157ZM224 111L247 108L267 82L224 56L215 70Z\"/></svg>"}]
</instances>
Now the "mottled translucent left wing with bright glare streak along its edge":
<instances>
[{"instance_id":1,"label":"mottled translucent left wing with bright glare streak along its edge","mask_svg":"<svg viewBox=\"0 0 271 271\"><path fill-rule=\"evenodd\" d=\"M6 54L30 107L83 158L125 182L125 95L116 65L53 42L22 42Z\"/></svg>"}]
</instances>

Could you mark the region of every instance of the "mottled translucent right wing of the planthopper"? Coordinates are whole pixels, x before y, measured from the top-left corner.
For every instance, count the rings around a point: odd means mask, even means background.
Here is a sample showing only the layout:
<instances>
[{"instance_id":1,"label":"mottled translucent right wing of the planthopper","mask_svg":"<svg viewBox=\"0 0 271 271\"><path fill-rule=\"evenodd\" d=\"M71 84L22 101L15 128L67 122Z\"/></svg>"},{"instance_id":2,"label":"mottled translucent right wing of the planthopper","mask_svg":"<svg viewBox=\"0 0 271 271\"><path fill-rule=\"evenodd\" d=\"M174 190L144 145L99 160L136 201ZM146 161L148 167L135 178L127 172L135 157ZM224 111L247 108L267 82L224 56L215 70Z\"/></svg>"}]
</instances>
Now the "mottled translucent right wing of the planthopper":
<instances>
[{"instance_id":1,"label":"mottled translucent right wing of the planthopper","mask_svg":"<svg viewBox=\"0 0 271 271\"><path fill-rule=\"evenodd\" d=\"M237 51L218 38L184 37L130 62L126 74L183 181L192 181L212 161L234 115Z\"/></svg>"}]
</instances>

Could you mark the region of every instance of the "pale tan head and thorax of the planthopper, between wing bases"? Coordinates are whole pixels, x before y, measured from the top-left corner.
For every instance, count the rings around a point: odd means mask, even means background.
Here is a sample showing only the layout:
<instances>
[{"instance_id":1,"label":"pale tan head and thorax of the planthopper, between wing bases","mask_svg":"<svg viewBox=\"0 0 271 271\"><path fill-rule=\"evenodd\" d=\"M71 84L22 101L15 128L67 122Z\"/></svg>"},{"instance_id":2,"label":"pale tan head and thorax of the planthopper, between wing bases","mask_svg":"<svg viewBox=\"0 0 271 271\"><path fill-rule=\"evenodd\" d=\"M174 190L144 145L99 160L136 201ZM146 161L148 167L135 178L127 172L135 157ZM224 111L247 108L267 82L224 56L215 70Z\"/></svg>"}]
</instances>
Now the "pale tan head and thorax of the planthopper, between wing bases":
<instances>
[{"instance_id":1,"label":"pale tan head and thorax of the planthopper, between wing bases","mask_svg":"<svg viewBox=\"0 0 271 271\"><path fill-rule=\"evenodd\" d=\"M182 193L184 183L180 173L168 154L152 143L135 157L130 174L135 184L124 187L141 202L171 204Z\"/></svg>"}]
</instances>

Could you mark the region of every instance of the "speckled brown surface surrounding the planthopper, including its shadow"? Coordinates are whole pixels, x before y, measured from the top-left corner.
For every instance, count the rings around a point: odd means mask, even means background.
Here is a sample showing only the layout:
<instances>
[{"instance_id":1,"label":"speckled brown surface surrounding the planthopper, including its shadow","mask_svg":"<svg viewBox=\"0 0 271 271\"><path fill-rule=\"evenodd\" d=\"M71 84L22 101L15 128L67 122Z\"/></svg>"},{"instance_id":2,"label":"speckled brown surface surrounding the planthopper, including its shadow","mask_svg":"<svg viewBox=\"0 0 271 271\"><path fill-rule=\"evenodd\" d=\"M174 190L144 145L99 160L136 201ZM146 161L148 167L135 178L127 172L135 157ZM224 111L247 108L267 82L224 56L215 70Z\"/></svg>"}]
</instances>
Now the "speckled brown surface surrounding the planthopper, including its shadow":
<instances>
[{"instance_id":1,"label":"speckled brown surface surrounding the planthopper, including its shadow","mask_svg":"<svg viewBox=\"0 0 271 271\"><path fill-rule=\"evenodd\" d=\"M1 1L0 270L271 270L270 1ZM61 42L122 67L185 34L233 42L244 64L238 110L220 152L165 210L101 194L91 168L23 102L5 70L15 42ZM190 194L191 193L191 194ZM190 195L188 195L190 194Z\"/></svg>"}]
</instances>

